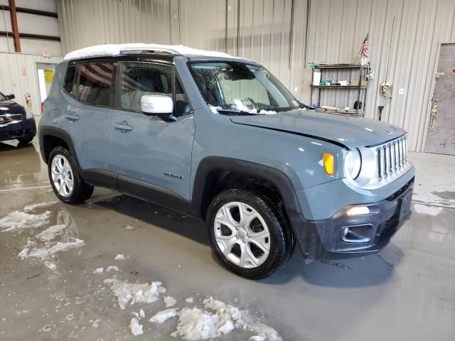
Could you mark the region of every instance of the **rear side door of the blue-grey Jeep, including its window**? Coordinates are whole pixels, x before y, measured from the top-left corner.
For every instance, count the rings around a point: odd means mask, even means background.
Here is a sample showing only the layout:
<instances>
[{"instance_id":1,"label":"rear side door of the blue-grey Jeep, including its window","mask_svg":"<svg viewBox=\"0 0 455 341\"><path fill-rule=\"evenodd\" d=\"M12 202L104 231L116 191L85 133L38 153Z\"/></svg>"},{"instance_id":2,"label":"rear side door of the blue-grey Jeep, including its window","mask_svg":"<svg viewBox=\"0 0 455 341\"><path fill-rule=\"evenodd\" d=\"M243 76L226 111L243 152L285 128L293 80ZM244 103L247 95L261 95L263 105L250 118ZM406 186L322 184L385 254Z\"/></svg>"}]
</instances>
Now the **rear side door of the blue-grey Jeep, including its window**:
<instances>
[{"instance_id":1,"label":"rear side door of the blue-grey Jeep, including its window","mask_svg":"<svg viewBox=\"0 0 455 341\"><path fill-rule=\"evenodd\" d=\"M70 135L80 167L85 171L100 173L112 169L113 67L112 63L72 65L65 76L68 104L63 109L61 128Z\"/></svg>"}]
</instances>

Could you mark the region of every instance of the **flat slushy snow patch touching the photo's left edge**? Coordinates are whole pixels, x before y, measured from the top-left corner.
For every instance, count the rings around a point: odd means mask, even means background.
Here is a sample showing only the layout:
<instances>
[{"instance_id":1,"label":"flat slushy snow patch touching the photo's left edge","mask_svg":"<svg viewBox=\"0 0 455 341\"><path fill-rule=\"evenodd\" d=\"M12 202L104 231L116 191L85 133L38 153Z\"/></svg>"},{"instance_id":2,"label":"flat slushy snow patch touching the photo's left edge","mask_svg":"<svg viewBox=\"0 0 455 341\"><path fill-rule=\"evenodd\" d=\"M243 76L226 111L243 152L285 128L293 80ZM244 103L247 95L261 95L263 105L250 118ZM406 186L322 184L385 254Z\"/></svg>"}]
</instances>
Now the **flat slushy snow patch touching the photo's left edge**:
<instances>
[{"instance_id":1,"label":"flat slushy snow patch touching the photo's left edge","mask_svg":"<svg viewBox=\"0 0 455 341\"><path fill-rule=\"evenodd\" d=\"M1 232L17 232L23 229L36 229L48 223L50 211L41 215L31 215L26 212L14 211L0 219Z\"/></svg>"}]
</instances>

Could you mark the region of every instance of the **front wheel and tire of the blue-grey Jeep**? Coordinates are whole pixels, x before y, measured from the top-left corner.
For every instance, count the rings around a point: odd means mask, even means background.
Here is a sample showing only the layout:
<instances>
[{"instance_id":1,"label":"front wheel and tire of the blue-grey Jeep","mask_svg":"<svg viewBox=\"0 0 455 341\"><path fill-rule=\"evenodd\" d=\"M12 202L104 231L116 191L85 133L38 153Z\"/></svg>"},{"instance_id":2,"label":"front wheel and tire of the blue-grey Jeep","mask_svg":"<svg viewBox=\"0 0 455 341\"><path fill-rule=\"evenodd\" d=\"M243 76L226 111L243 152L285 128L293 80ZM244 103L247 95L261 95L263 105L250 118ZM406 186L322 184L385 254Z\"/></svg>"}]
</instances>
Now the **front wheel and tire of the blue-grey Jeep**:
<instances>
[{"instance_id":1,"label":"front wheel and tire of the blue-grey Jeep","mask_svg":"<svg viewBox=\"0 0 455 341\"><path fill-rule=\"evenodd\" d=\"M232 188L218 194L207 212L211 247L235 274L266 278L281 269L292 249L279 207L254 190Z\"/></svg>"}]
</instances>

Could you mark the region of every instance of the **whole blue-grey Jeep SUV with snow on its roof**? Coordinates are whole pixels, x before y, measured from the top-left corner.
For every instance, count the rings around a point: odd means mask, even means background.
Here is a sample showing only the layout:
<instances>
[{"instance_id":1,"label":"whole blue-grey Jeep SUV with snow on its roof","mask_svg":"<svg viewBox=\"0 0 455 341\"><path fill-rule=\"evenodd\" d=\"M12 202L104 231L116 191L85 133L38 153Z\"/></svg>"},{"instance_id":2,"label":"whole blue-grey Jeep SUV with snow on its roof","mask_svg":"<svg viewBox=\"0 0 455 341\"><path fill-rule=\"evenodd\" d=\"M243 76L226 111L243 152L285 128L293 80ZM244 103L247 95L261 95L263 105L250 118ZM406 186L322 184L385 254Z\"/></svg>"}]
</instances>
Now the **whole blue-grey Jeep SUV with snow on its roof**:
<instances>
[{"instance_id":1,"label":"whole blue-grey Jeep SUV with snow on its roof","mask_svg":"<svg viewBox=\"0 0 455 341\"><path fill-rule=\"evenodd\" d=\"M405 131L309 110L264 67L178 46L102 45L55 70L39 124L63 202L112 188L198 217L231 271L373 254L410 217Z\"/></svg>"}]
</instances>

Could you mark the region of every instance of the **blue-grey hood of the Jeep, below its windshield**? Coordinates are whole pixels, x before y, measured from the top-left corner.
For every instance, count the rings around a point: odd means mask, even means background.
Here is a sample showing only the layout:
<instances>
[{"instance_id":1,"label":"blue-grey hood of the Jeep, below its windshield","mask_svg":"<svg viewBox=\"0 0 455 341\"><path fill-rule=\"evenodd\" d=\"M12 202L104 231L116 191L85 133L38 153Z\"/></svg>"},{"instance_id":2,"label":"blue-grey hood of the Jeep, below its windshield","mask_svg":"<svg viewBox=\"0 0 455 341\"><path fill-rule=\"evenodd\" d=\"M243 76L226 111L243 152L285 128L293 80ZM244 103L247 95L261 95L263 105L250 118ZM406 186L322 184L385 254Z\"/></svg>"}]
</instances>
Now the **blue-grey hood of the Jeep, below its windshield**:
<instances>
[{"instance_id":1,"label":"blue-grey hood of the Jeep, below its windshield","mask_svg":"<svg viewBox=\"0 0 455 341\"><path fill-rule=\"evenodd\" d=\"M304 109L268 115L232 116L230 120L235 124L286 131L331 141L348 148L374 146L405 134L401 128L382 121Z\"/></svg>"}]
</instances>

